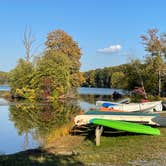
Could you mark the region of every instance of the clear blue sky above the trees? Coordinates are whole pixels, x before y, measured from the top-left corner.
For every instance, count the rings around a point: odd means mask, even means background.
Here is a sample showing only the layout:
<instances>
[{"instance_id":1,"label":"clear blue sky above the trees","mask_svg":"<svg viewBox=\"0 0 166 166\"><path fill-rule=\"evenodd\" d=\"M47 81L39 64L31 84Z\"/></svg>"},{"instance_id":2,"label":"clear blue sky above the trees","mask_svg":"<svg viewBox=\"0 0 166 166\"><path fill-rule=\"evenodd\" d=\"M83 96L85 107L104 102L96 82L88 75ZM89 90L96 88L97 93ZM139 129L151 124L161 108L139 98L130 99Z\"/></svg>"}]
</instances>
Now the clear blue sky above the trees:
<instances>
[{"instance_id":1,"label":"clear blue sky above the trees","mask_svg":"<svg viewBox=\"0 0 166 166\"><path fill-rule=\"evenodd\" d=\"M30 26L34 54L47 34L62 29L82 50L81 71L116 66L146 55L140 35L150 28L166 32L165 0L1 0L0 71L25 57L23 33ZM34 51L33 50L33 51Z\"/></svg>"}]
</instances>

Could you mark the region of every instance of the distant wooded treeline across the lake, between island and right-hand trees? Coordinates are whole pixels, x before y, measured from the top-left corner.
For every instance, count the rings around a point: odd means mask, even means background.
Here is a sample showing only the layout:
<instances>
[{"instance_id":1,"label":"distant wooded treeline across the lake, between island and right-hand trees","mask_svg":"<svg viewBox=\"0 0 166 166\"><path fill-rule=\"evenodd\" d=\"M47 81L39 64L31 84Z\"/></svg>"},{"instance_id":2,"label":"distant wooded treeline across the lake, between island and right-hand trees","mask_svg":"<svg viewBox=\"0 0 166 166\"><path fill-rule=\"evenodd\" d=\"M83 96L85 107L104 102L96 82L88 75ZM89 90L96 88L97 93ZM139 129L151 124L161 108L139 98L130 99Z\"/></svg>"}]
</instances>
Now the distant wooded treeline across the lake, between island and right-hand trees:
<instances>
[{"instance_id":1,"label":"distant wooded treeline across the lake, between island and right-hand trees","mask_svg":"<svg viewBox=\"0 0 166 166\"><path fill-rule=\"evenodd\" d=\"M90 70L84 73L84 78L84 87L133 89L141 85L139 76L131 64Z\"/></svg>"}]
</instances>

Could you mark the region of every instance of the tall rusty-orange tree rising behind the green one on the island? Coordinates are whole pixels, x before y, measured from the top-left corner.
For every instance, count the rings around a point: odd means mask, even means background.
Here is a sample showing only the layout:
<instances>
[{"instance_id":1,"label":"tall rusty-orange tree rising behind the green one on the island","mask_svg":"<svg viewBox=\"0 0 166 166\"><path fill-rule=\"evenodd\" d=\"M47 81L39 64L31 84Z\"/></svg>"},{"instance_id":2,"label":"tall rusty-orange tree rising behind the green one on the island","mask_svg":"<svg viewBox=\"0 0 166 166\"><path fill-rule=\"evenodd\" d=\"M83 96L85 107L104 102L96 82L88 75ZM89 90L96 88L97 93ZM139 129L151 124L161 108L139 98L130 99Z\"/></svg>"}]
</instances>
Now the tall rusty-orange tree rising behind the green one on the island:
<instances>
[{"instance_id":1,"label":"tall rusty-orange tree rising behind the green one on the island","mask_svg":"<svg viewBox=\"0 0 166 166\"><path fill-rule=\"evenodd\" d=\"M80 86L80 58L81 49L77 42L63 30L55 30L48 34L47 41L45 42L48 51L62 52L69 60L69 73L71 75L72 87Z\"/></svg>"}]
</instances>

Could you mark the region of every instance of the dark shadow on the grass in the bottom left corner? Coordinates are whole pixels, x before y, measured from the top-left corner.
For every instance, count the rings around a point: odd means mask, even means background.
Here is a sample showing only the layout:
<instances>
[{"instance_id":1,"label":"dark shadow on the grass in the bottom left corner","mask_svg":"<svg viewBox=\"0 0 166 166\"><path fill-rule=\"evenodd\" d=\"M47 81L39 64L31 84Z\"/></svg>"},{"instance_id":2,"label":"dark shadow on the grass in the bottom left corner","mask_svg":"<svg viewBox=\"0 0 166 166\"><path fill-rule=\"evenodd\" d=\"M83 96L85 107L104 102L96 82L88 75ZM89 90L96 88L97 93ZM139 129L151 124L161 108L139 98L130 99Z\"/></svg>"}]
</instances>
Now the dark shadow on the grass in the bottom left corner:
<instances>
[{"instance_id":1,"label":"dark shadow on the grass in the bottom left corner","mask_svg":"<svg viewBox=\"0 0 166 166\"><path fill-rule=\"evenodd\" d=\"M43 150L27 150L11 155L0 155L0 166L70 166L84 164L75 155L55 155Z\"/></svg>"}]
</instances>

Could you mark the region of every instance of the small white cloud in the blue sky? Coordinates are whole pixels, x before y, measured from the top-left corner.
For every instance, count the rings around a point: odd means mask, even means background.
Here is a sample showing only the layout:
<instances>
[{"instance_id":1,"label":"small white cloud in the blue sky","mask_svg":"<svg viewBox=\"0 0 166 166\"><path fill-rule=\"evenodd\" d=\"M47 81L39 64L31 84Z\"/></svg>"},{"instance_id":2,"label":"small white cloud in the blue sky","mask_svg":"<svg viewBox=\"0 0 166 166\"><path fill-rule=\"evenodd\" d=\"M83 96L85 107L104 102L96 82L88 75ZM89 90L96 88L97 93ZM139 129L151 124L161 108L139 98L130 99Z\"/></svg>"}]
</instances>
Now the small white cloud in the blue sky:
<instances>
[{"instance_id":1,"label":"small white cloud in the blue sky","mask_svg":"<svg viewBox=\"0 0 166 166\"><path fill-rule=\"evenodd\" d=\"M98 49L97 52L100 53L105 53L105 54L111 54L111 53L117 53L122 49L122 46L117 44L117 45L110 45L107 48L101 48Z\"/></svg>"}]
</instances>

